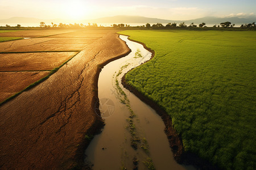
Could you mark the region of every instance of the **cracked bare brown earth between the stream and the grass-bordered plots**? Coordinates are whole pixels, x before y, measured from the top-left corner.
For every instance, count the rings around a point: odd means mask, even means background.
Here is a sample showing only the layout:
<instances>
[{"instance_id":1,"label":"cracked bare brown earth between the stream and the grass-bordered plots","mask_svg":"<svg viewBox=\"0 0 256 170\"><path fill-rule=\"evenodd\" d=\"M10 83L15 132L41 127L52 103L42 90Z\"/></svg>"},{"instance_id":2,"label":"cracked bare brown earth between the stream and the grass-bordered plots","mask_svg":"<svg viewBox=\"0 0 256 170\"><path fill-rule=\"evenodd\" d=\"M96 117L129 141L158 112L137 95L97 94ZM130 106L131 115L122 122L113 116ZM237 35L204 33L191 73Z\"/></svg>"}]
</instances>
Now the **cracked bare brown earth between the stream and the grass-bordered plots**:
<instances>
[{"instance_id":1,"label":"cracked bare brown earth between the stream and the grass-bordered plots","mask_svg":"<svg viewBox=\"0 0 256 170\"><path fill-rule=\"evenodd\" d=\"M47 80L1 105L1 169L81 168L88 136L103 125L94 112L100 69L130 53L116 31L101 32Z\"/></svg>"}]
</instances>

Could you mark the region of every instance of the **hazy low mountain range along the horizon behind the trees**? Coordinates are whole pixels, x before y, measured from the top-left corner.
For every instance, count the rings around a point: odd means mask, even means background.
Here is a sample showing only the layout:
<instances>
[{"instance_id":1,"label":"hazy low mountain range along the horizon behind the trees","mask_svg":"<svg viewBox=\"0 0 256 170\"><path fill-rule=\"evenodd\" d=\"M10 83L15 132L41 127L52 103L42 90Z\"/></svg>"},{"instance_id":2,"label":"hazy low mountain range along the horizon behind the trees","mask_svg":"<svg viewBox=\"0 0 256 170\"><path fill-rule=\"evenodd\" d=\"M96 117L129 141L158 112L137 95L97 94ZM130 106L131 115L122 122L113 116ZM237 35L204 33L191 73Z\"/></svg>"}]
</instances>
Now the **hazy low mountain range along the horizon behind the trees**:
<instances>
[{"instance_id":1,"label":"hazy low mountain range along the horizon behind the trees","mask_svg":"<svg viewBox=\"0 0 256 170\"><path fill-rule=\"evenodd\" d=\"M119 24L119 23L181 23L185 22L186 24L190 23L207 23L207 24L220 24L222 22L231 22L231 23L253 23L256 22L256 16L251 16L250 18L238 18L238 17L229 17L229 18L218 18L214 16L208 16L204 18L191 19L191 20L166 20L166 19L158 19L158 18L147 18L144 16L126 16L126 15L118 15L118 16L110 16L98 19L91 20L77 20L76 23L111 23L111 24ZM26 17L13 17L9 19L0 19L0 23L74 23L72 20L64 20L64 19L38 19L38 18L26 18Z\"/></svg>"}]
</instances>

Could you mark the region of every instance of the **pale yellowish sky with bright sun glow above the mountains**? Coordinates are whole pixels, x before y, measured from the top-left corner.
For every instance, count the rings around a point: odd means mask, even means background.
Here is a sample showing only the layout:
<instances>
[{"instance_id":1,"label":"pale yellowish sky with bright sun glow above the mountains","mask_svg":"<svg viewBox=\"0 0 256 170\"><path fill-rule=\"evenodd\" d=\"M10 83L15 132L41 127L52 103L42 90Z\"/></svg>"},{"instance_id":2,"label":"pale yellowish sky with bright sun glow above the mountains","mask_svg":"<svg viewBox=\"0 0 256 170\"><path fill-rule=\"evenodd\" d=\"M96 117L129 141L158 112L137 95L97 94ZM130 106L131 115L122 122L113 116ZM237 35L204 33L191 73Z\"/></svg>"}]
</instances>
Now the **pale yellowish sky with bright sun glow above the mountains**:
<instances>
[{"instance_id":1,"label":"pale yellowish sky with bright sun glow above the mountains","mask_svg":"<svg viewBox=\"0 0 256 170\"><path fill-rule=\"evenodd\" d=\"M115 15L189 20L204 16L255 16L256 0L0 0L0 19L96 19Z\"/></svg>"}]
</instances>

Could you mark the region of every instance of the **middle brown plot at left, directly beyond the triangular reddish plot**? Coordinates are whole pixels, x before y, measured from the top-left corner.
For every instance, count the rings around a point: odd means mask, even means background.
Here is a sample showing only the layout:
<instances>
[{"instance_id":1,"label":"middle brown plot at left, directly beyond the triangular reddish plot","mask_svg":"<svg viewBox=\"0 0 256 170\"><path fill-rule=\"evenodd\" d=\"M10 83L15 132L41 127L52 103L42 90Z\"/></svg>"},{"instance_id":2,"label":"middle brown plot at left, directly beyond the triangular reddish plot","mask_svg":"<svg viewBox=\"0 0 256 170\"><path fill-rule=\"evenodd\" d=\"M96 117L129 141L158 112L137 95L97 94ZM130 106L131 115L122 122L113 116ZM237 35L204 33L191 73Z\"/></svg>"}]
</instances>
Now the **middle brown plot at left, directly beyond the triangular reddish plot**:
<instances>
[{"instance_id":1,"label":"middle brown plot at left, directly beyond the triangular reddish plot","mask_svg":"<svg viewBox=\"0 0 256 170\"><path fill-rule=\"evenodd\" d=\"M53 70L77 52L0 54L0 71Z\"/></svg>"}]
</instances>

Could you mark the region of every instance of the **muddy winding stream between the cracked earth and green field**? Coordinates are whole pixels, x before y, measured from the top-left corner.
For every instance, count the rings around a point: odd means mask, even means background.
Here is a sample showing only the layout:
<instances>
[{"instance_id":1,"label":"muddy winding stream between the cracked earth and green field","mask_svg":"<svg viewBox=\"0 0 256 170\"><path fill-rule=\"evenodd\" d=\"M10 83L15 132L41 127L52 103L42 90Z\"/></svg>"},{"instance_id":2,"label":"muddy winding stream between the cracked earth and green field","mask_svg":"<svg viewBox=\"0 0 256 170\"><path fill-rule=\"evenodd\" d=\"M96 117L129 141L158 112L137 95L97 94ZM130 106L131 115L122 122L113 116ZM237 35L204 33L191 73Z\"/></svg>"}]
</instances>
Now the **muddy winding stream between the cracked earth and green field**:
<instances>
[{"instance_id":1,"label":"muddy winding stream between the cracked earth and green field","mask_svg":"<svg viewBox=\"0 0 256 170\"><path fill-rule=\"evenodd\" d=\"M126 36L119 37L132 52L100 73L99 109L105 126L90 142L85 162L92 169L193 169L175 162L160 116L122 86L122 76L150 59L151 53Z\"/></svg>"}]
</instances>

